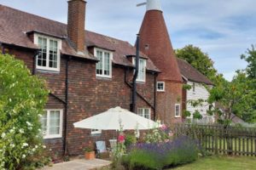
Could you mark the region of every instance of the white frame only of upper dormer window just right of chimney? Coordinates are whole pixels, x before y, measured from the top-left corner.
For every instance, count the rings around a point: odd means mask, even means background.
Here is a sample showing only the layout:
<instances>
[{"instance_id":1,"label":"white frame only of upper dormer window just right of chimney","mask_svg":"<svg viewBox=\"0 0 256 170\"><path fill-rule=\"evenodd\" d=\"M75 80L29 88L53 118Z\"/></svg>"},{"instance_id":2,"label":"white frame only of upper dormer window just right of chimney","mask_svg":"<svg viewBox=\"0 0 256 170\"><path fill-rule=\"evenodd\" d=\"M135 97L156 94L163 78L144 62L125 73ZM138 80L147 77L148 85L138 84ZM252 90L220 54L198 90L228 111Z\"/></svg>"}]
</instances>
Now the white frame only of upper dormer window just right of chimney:
<instances>
[{"instance_id":1,"label":"white frame only of upper dormer window just right of chimney","mask_svg":"<svg viewBox=\"0 0 256 170\"><path fill-rule=\"evenodd\" d=\"M96 56L97 51L101 51L102 54L108 53L109 54L109 75L104 75L104 62L105 62L105 56L102 56L102 74L97 74L96 77L103 77L103 78L112 78L112 60L113 60L113 52L102 49L102 48L94 48L94 55ZM97 56L96 56L97 58Z\"/></svg>"}]
</instances>

